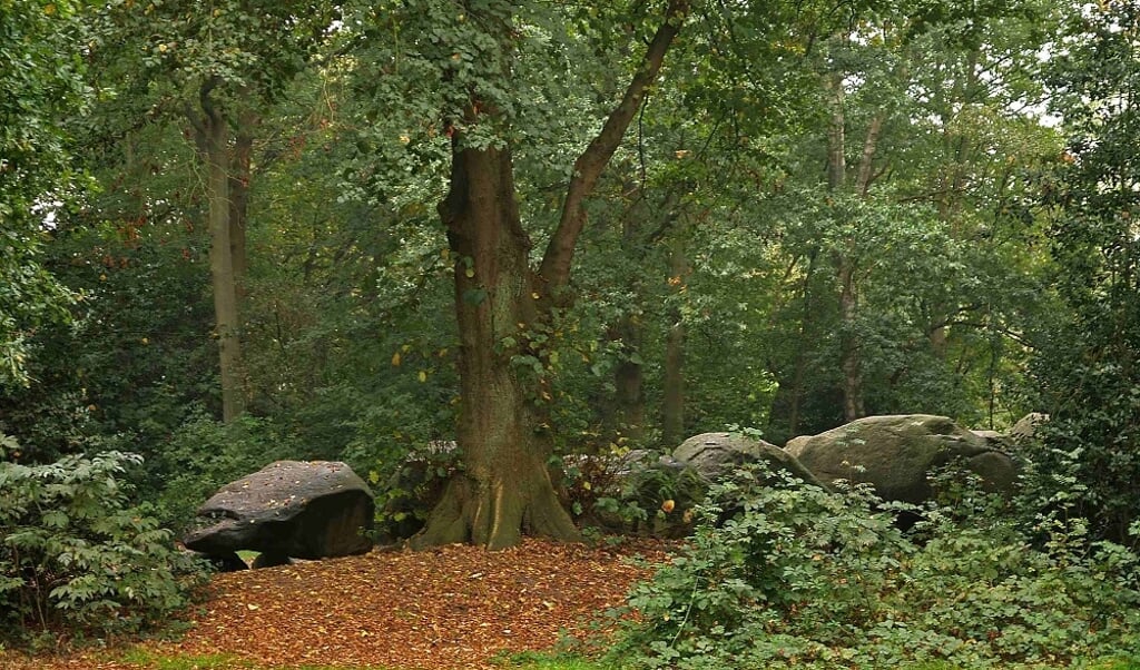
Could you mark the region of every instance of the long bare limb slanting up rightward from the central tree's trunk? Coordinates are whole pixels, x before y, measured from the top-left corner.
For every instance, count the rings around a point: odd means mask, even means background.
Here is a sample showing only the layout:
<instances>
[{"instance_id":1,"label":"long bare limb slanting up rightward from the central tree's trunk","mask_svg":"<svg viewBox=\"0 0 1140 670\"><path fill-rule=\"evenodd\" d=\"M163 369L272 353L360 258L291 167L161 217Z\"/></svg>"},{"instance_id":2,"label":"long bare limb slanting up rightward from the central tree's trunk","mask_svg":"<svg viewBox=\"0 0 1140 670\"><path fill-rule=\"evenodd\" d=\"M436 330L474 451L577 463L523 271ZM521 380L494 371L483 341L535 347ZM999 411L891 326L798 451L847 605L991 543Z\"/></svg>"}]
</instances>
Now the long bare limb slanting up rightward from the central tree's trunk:
<instances>
[{"instance_id":1,"label":"long bare limb slanting up rightward from the central tree's trunk","mask_svg":"<svg viewBox=\"0 0 1140 670\"><path fill-rule=\"evenodd\" d=\"M681 31L689 11L689 0L669 0L665 21L653 35L621 103L610 113L597 137L575 161L573 177L570 179L567 197L562 204L562 215L539 268L539 275L547 281L548 295L560 294L570 279L575 246L586 224L586 198L593 194L602 171L621 144L646 91L657 80L665 55Z\"/></svg>"}]
</instances>

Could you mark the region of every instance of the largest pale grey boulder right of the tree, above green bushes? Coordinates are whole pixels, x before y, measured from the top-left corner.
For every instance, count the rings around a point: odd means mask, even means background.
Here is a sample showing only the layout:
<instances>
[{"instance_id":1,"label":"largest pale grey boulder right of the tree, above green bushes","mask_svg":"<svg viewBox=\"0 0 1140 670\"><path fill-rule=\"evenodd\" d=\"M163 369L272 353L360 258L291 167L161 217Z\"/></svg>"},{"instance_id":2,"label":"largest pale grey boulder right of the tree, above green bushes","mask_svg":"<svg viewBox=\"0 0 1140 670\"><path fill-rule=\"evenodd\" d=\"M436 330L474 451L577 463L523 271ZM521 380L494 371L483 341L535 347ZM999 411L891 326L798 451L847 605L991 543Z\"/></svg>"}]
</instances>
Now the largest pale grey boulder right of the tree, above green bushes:
<instances>
[{"instance_id":1,"label":"largest pale grey boulder right of the tree, above green bushes","mask_svg":"<svg viewBox=\"0 0 1140 670\"><path fill-rule=\"evenodd\" d=\"M955 459L990 490L1011 491L1017 480L1012 458L944 416L866 417L791 440L787 450L821 480L868 482L885 500L928 500L933 491L927 475Z\"/></svg>"}]
</instances>

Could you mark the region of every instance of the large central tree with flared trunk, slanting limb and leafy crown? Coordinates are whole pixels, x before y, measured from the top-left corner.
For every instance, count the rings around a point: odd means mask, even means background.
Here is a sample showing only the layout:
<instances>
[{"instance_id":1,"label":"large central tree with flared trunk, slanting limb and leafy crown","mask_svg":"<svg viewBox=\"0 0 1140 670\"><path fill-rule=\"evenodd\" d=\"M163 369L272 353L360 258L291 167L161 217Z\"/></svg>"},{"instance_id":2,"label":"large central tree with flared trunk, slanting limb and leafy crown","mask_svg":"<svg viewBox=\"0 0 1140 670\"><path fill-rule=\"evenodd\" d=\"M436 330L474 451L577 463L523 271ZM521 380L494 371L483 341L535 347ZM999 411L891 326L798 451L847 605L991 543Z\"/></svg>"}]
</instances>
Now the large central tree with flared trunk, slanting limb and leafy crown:
<instances>
[{"instance_id":1,"label":"large central tree with flared trunk, slanting limb and leafy crown","mask_svg":"<svg viewBox=\"0 0 1140 670\"><path fill-rule=\"evenodd\" d=\"M376 123L409 147L448 139L439 213L455 263L463 463L415 545L577 537L547 469L549 406L576 248L600 179L646 96L677 79L694 111L720 93L732 100L725 128L784 112L774 91L788 81L769 82L749 63L783 71L809 50L811 34L829 30L822 24L849 18L850 7L833 9L420 0L347 22L361 26L358 59L369 76L358 79L380 100ZM703 55L665 76L686 25L701 26ZM725 74L738 66L744 75ZM397 114L407 115L402 131L392 129Z\"/></svg>"}]
</instances>

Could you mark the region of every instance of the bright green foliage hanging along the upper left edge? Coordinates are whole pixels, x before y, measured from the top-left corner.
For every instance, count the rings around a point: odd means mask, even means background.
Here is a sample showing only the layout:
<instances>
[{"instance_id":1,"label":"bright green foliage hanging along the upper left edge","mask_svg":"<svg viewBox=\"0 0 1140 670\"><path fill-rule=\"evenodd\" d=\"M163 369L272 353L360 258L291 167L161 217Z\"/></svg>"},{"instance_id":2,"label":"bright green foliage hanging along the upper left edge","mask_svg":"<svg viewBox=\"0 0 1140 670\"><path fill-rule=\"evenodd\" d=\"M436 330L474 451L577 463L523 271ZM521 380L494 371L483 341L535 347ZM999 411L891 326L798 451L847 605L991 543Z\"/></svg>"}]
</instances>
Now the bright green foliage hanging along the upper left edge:
<instances>
[{"instance_id":1,"label":"bright green foliage hanging along the upper left edge","mask_svg":"<svg viewBox=\"0 0 1140 670\"><path fill-rule=\"evenodd\" d=\"M57 123L87 101L74 2L0 6L0 387L26 385L36 327L74 296L42 267L41 221L76 188Z\"/></svg>"}]
</instances>

